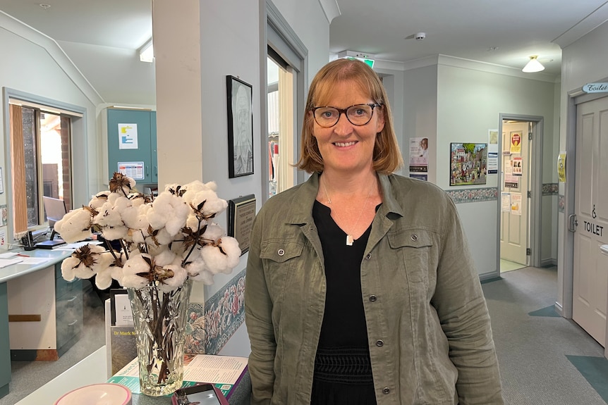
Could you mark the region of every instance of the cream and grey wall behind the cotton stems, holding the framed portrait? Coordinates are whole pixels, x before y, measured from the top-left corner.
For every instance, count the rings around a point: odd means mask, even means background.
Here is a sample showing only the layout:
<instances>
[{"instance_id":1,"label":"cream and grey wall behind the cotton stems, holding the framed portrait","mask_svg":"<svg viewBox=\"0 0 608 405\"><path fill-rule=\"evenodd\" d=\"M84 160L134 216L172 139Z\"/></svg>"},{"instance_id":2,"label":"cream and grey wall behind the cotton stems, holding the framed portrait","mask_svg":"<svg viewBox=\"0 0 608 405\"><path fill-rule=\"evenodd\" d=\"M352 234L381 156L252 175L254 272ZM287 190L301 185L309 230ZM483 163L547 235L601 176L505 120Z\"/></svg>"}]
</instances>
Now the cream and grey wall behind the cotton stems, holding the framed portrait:
<instances>
[{"instance_id":1,"label":"cream and grey wall behind the cotton stems, holding the framed portrait","mask_svg":"<svg viewBox=\"0 0 608 405\"><path fill-rule=\"evenodd\" d=\"M233 3L208 7L197 0L184 0L176 8L173 0L154 1L159 186L214 180L221 198L254 194L256 208L260 208L265 145L265 118L260 116L260 92L265 92L260 69L265 61L260 61L260 54L266 47L265 6L265 1L242 1L235 12ZM275 6L308 49L308 88L312 75L328 61L329 21L317 1L276 1ZM228 178L226 75L253 86L254 174L233 179ZM227 226L225 213L217 222ZM197 286L202 291L193 293L193 301L200 301L202 294L208 299L219 292L245 269L247 256L241 256L231 274L216 275L214 285ZM222 354L249 354L244 324Z\"/></svg>"}]
</instances>

